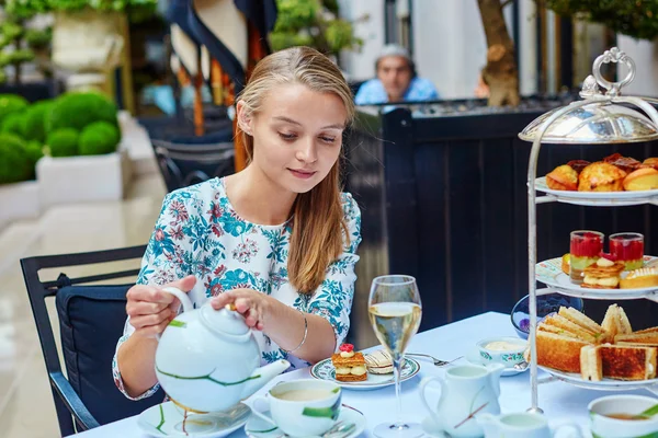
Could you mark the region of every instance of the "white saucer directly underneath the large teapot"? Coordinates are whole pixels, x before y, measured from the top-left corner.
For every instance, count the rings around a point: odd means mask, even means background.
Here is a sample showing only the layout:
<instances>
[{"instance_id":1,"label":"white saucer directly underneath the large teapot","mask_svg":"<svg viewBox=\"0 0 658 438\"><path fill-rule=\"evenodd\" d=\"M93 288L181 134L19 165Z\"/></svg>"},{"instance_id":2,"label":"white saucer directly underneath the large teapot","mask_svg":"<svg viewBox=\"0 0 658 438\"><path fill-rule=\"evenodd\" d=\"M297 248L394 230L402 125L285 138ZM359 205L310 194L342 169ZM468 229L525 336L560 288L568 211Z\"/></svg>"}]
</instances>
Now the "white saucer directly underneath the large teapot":
<instances>
[{"instance_id":1,"label":"white saucer directly underneath the large teapot","mask_svg":"<svg viewBox=\"0 0 658 438\"><path fill-rule=\"evenodd\" d=\"M188 414L185 420L182 408L172 402L164 402L139 414L137 425L151 437L220 438L239 429L250 415L249 406L238 403L222 412Z\"/></svg>"}]
</instances>

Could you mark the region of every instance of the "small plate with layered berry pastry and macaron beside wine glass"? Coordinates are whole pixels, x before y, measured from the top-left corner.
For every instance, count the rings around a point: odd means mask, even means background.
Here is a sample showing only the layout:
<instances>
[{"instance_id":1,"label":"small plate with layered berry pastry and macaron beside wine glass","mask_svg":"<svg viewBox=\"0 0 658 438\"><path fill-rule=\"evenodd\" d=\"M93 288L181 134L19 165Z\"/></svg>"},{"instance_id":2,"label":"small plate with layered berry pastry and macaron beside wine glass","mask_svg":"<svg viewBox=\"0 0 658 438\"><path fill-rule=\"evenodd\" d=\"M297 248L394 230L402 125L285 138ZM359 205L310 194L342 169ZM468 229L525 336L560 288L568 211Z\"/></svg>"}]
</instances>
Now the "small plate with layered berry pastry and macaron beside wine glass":
<instances>
[{"instance_id":1,"label":"small plate with layered berry pastry and macaron beside wine glass","mask_svg":"<svg viewBox=\"0 0 658 438\"><path fill-rule=\"evenodd\" d=\"M375 390L395 383L393 358L384 349L372 353L354 351L352 344L343 344L339 353L317 362L310 376L320 380L331 380L344 389ZM400 382L413 378L420 371L418 361L406 357L400 372Z\"/></svg>"}]
</instances>

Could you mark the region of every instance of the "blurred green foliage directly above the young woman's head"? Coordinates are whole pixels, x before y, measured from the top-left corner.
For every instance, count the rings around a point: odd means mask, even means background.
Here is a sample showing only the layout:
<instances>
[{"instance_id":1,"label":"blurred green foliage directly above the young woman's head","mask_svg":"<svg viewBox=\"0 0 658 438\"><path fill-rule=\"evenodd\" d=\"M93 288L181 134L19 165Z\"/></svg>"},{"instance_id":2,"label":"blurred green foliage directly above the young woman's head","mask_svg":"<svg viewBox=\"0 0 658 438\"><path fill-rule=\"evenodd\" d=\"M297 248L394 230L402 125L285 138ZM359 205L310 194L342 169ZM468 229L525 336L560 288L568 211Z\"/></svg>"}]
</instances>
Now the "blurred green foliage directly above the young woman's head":
<instances>
[{"instance_id":1,"label":"blurred green foliage directly above the young woman's head","mask_svg":"<svg viewBox=\"0 0 658 438\"><path fill-rule=\"evenodd\" d=\"M352 23L338 18L336 0L276 0L276 24L270 34L274 50L310 46L326 55L361 47Z\"/></svg>"}]
</instances>

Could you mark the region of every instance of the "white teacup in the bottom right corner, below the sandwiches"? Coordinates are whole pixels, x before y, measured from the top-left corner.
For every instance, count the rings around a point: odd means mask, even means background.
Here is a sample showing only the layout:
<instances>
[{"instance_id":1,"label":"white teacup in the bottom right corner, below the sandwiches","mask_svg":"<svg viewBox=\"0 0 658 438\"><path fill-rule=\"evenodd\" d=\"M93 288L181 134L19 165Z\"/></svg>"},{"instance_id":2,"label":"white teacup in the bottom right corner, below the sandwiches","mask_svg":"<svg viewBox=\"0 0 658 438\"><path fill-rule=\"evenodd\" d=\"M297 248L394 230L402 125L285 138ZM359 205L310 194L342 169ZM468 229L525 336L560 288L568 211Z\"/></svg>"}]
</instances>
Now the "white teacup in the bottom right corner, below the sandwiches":
<instances>
[{"instance_id":1,"label":"white teacup in the bottom right corner, below the sandwiches","mask_svg":"<svg viewBox=\"0 0 658 438\"><path fill-rule=\"evenodd\" d=\"M594 438L654 438L658 437L658 417L621 419L610 415L637 415L658 404L658 399L644 395L609 395L592 401L589 406L590 425Z\"/></svg>"}]
</instances>

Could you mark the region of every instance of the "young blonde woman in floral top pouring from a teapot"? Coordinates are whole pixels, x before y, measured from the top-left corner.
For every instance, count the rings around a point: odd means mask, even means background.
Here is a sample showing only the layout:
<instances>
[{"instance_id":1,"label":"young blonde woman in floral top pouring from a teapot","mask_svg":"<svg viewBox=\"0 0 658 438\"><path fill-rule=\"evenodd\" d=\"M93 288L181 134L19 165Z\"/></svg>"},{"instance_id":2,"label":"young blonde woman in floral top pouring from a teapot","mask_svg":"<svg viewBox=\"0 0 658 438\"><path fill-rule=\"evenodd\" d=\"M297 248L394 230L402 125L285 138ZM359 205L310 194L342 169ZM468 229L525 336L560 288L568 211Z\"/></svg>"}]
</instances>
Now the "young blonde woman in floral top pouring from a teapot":
<instances>
[{"instance_id":1,"label":"young blonde woman in floral top pouring from a teapot","mask_svg":"<svg viewBox=\"0 0 658 438\"><path fill-rule=\"evenodd\" d=\"M197 308L235 304L265 362L304 367L336 351L350 326L361 241L361 212L339 185L353 115L350 88L317 50L295 47L258 64L237 102L247 169L164 198L113 361L126 396L157 390L155 335L179 308L164 286L189 292Z\"/></svg>"}]
</instances>

